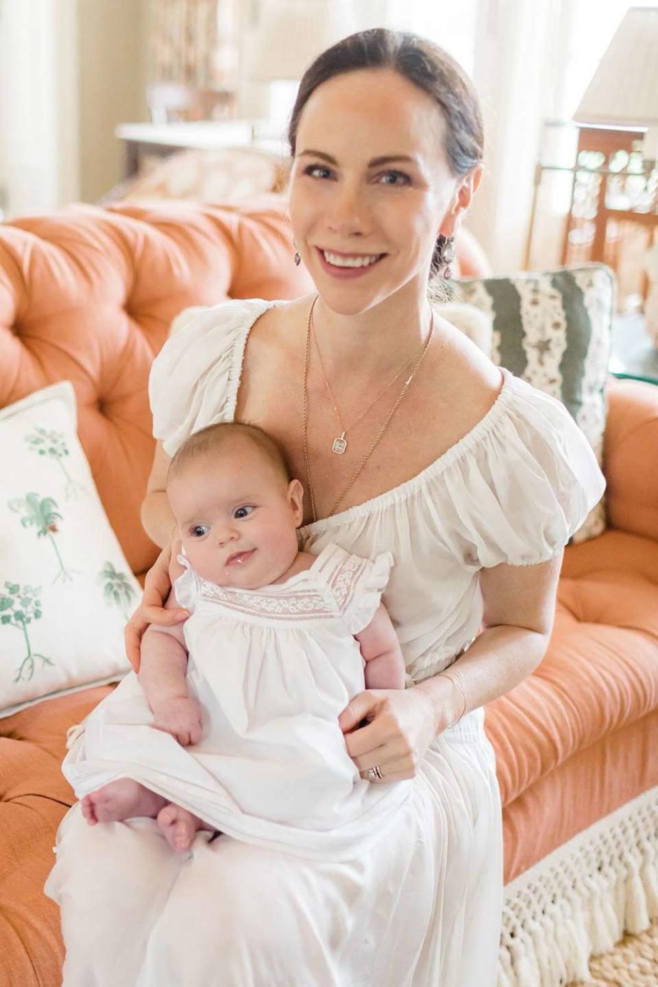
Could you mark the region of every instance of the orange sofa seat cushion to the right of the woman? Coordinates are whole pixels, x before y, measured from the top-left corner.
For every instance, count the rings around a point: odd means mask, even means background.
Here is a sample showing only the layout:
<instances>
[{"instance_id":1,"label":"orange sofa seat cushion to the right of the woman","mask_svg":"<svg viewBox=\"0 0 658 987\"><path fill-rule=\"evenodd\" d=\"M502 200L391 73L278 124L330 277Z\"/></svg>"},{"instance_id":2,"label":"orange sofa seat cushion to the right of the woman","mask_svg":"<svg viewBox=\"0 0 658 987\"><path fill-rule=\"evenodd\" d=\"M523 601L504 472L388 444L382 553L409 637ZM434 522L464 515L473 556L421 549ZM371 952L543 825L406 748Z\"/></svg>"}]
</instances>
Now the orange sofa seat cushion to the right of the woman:
<instances>
[{"instance_id":1,"label":"orange sofa seat cushion to the right of the woman","mask_svg":"<svg viewBox=\"0 0 658 987\"><path fill-rule=\"evenodd\" d=\"M606 531L567 548L544 660L486 709L503 805L658 707L656 641L656 543Z\"/></svg>"}]
</instances>

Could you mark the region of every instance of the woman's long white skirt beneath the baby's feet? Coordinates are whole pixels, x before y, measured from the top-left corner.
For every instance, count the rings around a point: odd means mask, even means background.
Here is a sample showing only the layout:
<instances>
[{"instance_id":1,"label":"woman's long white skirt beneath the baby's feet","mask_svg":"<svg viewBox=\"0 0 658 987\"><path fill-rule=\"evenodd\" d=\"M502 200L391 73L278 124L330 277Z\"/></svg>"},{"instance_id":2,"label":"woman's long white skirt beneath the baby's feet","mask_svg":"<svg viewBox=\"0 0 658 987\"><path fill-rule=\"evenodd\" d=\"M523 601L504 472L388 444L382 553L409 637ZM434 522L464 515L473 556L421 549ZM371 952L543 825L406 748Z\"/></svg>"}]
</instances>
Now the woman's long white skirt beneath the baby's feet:
<instances>
[{"instance_id":1,"label":"woman's long white skirt beneath the baby's feet","mask_svg":"<svg viewBox=\"0 0 658 987\"><path fill-rule=\"evenodd\" d=\"M475 710L433 741L413 793L358 858L306 860L155 821L63 819L45 892L63 987L495 987L502 813Z\"/></svg>"}]
</instances>

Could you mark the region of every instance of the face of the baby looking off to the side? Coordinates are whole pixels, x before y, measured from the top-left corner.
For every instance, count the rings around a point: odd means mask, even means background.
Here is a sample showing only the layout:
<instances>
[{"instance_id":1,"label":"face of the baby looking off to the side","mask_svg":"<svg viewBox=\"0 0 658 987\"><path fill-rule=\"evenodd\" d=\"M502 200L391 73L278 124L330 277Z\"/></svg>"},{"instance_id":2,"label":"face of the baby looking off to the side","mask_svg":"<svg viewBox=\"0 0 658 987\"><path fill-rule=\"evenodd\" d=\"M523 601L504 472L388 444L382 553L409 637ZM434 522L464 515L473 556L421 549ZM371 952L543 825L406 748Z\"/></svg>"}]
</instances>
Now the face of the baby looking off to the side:
<instances>
[{"instance_id":1,"label":"face of the baby looking off to the side","mask_svg":"<svg viewBox=\"0 0 658 987\"><path fill-rule=\"evenodd\" d=\"M229 439L183 465L167 493L189 563L204 579L257 589L295 561L302 485L288 484L249 439Z\"/></svg>"}]
</instances>

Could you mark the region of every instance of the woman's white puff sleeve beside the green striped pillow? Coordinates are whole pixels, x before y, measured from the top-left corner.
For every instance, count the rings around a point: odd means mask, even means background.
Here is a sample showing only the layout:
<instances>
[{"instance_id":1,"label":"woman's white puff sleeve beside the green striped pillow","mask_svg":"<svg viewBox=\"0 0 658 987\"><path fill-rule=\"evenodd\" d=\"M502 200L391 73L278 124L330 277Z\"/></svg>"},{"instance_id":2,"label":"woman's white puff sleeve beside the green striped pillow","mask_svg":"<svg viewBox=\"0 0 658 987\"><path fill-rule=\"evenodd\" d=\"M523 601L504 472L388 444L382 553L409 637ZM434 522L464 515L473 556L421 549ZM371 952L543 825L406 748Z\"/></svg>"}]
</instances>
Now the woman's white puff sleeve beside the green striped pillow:
<instances>
[{"instance_id":1,"label":"woman's white puff sleeve beside the green striped pillow","mask_svg":"<svg viewBox=\"0 0 658 987\"><path fill-rule=\"evenodd\" d=\"M594 452L564 406L511 375L499 414L440 482L442 524L476 568L548 561L605 489Z\"/></svg>"}]
</instances>

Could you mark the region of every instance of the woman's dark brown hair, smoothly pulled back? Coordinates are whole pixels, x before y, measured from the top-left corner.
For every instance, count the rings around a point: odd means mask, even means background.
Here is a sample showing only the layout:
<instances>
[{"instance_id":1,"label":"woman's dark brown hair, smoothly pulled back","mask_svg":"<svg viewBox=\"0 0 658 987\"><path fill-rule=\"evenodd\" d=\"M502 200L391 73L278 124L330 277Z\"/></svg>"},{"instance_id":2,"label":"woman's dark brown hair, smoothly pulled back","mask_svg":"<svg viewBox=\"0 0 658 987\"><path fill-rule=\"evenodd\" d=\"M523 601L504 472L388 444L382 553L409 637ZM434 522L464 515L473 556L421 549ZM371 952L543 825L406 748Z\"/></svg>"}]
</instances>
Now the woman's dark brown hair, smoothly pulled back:
<instances>
[{"instance_id":1,"label":"woman's dark brown hair, smoothly pulled back","mask_svg":"<svg viewBox=\"0 0 658 987\"><path fill-rule=\"evenodd\" d=\"M302 77L288 125L295 156L297 128L312 94L336 75L358 69L393 69L435 100L446 121L444 149L455 176L466 175L483 156L484 133L475 87L452 55L427 38L373 28L342 38L318 55ZM435 250L430 277L436 273Z\"/></svg>"}]
</instances>

